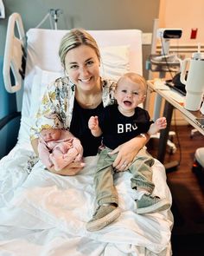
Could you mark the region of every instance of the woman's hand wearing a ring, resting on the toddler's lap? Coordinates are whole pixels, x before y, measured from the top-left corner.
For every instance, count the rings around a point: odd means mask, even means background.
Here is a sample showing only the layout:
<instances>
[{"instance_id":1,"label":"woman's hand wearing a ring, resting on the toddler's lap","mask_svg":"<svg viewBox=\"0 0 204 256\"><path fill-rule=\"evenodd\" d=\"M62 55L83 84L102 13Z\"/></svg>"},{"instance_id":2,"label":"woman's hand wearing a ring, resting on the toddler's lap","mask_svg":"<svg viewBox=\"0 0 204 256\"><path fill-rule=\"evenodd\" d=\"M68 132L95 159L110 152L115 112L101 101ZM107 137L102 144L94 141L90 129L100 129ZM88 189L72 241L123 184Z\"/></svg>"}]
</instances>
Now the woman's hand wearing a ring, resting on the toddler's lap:
<instances>
[{"instance_id":1,"label":"woman's hand wearing a ring, resting on the toddler's lap","mask_svg":"<svg viewBox=\"0 0 204 256\"><path fill-rule=\"evenodd\" d=\"M148 135L146 138L139 135L112 150L110 154L118 153L112 166L115 167L118 172L127 170L131 166L131 163L139 150L143 148L147 141L149 141Z\"/></svg>"}]
</instances>

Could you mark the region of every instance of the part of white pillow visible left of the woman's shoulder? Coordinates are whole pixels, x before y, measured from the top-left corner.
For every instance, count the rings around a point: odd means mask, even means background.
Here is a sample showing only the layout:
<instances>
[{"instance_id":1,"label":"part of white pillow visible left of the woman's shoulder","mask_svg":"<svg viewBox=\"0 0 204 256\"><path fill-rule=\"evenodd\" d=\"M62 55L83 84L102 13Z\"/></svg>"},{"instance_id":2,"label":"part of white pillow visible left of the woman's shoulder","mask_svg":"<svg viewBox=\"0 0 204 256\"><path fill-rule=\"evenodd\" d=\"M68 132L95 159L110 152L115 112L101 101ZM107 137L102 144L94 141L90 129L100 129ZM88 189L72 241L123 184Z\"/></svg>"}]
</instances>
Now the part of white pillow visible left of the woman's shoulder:
<instances>
[{"instance_id":1,"label":"part of white pillow visible left of the woman's shoulder","mask_svg":"<svg viewBox=\"0 0 204 256\"><path fill-rule=\"evenodd\" d=\"M29 117L33 118L40 107L42 96L48 84L54 82L54 80L63 75L61 72L52 72L42 70L35 66L35 75L33 77L31 96L30 96L30 111Z\"/></svg>"}]
</instances>

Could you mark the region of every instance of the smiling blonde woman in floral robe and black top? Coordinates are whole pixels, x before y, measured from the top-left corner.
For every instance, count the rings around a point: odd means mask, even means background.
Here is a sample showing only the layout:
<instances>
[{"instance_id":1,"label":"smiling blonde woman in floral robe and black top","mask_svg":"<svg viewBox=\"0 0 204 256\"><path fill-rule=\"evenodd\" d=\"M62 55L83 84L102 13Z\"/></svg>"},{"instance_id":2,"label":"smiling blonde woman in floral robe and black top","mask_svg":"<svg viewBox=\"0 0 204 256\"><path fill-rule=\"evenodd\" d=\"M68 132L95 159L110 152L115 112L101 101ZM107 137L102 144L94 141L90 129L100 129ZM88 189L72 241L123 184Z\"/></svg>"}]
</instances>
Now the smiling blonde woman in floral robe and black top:
<instances>
[{"instance_id":1,"label":"smiling blonde woman in floral robe and black top","mask_svg":"<svg viewBox=\"0 0 204 256\"><path fill-rule=\"evenodd\" d=\"M46 116L57 114L64 128L80 139L84 156L96 155L101 137L92 136L88 120L92 115L98 115L105 106L114 103L115 82L100 77L99 47L86 30L68 32L61 40L59 56L66 75L49 86L42 99L36 115L36 127L31 129L32 146L38 154L41 124L45 123ZM118 156L113 167L124 171L147 141L145 135L139 135L114 149L112 154L118 153ZM73 162L61 174L77 174L83 167L83 163ZM55 173L53 167L49 171Z\"/></svg>"}]
</instances>

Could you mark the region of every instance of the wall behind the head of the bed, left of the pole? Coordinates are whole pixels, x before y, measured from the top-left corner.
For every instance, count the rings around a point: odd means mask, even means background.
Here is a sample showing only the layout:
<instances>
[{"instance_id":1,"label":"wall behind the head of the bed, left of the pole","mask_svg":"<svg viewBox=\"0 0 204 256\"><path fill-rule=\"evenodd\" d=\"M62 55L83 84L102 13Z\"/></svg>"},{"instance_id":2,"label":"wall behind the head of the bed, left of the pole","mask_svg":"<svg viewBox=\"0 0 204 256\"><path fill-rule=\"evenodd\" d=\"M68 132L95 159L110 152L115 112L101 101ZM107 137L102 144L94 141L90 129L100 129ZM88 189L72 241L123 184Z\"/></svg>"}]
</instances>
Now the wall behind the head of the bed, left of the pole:
<instances>
[{"instance_id":1,"label":"wall behind the head of the bed, left of the pole","mask_svg":"<svg viewBox=\"0 0 204 256\"><path fill-rule=\"evenodd\" d=\"M3 0L6 18L0 19L0 56L6 36L8 17L13 12L22 16L24 29L34 28L50 9L61 9L58 29L82 27L86 30L139 29L151 33L158 17L159 0ZM49 19L41 28L50 29ZM143 46L143 60L150 54L150 45ZM147 75L143 62L143 75Z\"/></svg>"}]
</instances>

